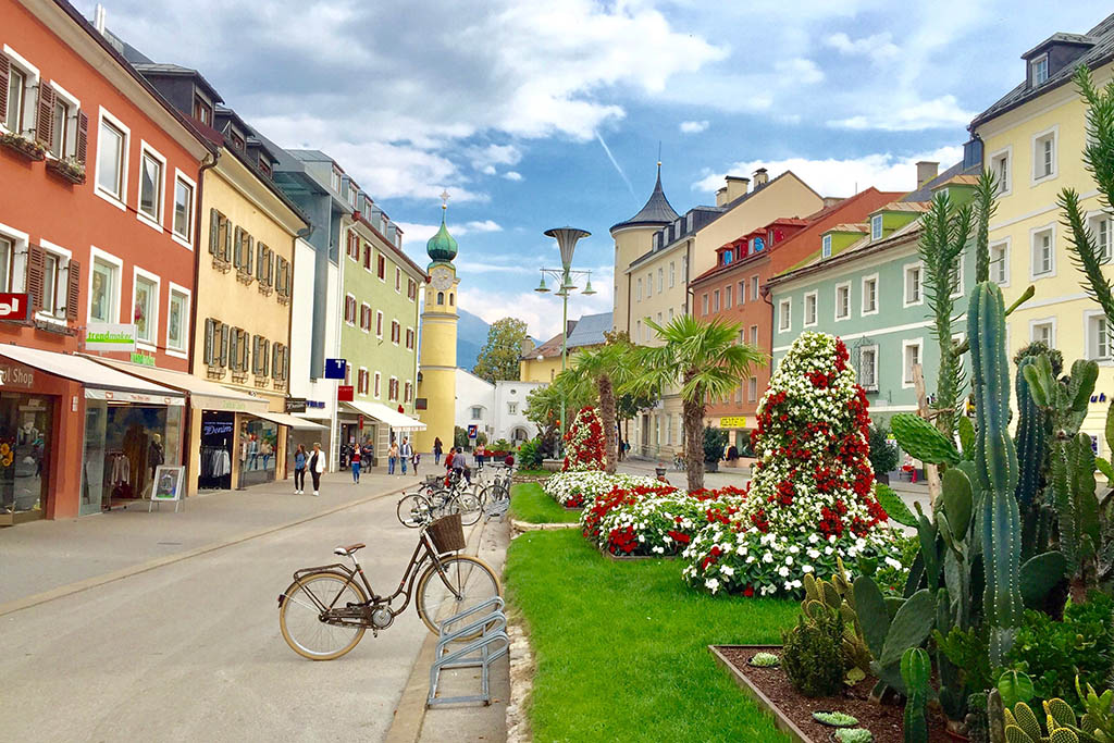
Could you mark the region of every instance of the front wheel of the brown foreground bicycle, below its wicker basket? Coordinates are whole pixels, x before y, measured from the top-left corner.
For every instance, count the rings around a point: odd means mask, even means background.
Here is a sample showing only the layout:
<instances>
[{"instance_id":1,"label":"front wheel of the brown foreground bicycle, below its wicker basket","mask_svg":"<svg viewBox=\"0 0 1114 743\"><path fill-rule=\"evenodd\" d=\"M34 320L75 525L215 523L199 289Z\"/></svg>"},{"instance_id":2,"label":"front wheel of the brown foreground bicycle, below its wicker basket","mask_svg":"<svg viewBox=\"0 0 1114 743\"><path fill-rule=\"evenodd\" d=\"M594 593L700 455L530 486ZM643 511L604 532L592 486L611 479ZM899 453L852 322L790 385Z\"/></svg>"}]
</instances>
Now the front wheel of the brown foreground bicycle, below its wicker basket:
<instances>
[{"instance_id":1,"label":"front wheel of the brown foreground bicycle, below its wicker basket","mask_svg":"<svg viewBox=\"0 0 1114 743\"><path fill-rule=\"evenodd\" d=\"M443 580L436 565L426 568L418 579L418 616L434 635L440 634L439 622L478 606L494 596L502 596L502 586L499 585L495 570L478 557L450 555L441 558L440 563L444 570Z\"/></svg>"}]
</instances>

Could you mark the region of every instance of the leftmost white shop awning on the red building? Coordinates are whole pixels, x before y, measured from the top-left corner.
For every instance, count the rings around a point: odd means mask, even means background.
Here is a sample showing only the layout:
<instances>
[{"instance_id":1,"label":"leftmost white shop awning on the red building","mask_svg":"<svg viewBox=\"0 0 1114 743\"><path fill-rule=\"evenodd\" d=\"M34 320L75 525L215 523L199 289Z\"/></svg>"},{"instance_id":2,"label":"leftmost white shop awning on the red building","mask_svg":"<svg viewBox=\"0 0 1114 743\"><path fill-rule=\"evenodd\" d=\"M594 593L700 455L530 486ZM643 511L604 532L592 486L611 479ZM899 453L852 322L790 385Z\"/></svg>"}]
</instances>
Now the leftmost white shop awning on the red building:
<instances>
[{"instance_id":1,"label":"leftmost white shop awning on the red building","mask_svg":"<svg viewBox=\"0 0 1114 743\"><path fill-rule=\"evenodd\" d=\"M58 353L21 345L0 345L0 355L16 363L39 371L63 377L85 385L85 397L113 402L138 402L156 405L185 404L182 392L136 379L129 374L102 366L86 356Z\"/></svg>"}]
</instances>

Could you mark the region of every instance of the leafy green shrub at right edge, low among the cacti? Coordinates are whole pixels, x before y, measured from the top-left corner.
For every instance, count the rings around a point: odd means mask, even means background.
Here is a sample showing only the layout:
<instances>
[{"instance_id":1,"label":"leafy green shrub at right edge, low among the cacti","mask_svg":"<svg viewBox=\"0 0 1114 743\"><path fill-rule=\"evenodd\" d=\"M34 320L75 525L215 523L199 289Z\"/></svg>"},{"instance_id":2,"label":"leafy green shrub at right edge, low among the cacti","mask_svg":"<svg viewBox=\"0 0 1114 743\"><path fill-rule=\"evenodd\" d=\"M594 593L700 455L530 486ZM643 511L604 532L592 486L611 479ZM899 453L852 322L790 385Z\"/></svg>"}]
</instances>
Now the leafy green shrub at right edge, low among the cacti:
<instances>
[{"instance_id":1,"label":"leafy green shrub at right edge, low among the cacti","mask_svg":"<svg viewBox=\"0 0 1114 743\"><path fill-rule=\"evenodd\" d=\"M1078 706L1075 677L1081 686L1105 688L1114 668L1114 598L1092 592L1082 604L1068 604L1064 620L1040 612L1025 612L1008 667L1033 678L1038 700L1059 697Z\"/></svg>"}]
</instances>

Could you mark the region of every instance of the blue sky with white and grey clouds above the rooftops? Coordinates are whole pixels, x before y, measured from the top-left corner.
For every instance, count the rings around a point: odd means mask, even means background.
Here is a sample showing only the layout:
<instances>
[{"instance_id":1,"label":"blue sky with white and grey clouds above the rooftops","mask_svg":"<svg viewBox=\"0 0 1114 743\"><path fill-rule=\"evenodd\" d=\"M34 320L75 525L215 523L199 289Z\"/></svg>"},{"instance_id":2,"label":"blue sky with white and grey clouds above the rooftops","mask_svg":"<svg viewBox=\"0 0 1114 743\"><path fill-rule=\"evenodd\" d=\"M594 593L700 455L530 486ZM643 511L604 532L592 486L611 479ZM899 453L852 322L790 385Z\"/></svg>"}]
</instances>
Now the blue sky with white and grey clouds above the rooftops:
<instances>
[{"instance_id":1,"label":"blue sky with white and grey clouds above the rooftops","mask_svg":"<svg viewBox=\"0 0 1114 743\"><path fill-rule=\"evenodd\" d=\"M77 7L92 16L94 3ZM284 147L338 160L421 264L451 195L460 306L560 327L534 292L543 232L592 233L574 267L607 312L614 243L654 184L681 214L725 174L792 169L824 196L908 190L1024 78L1019 56L1086 32L1103 2L1014 0L102 0L148 57L202 71Z\"/></svg>"}]
</instances>

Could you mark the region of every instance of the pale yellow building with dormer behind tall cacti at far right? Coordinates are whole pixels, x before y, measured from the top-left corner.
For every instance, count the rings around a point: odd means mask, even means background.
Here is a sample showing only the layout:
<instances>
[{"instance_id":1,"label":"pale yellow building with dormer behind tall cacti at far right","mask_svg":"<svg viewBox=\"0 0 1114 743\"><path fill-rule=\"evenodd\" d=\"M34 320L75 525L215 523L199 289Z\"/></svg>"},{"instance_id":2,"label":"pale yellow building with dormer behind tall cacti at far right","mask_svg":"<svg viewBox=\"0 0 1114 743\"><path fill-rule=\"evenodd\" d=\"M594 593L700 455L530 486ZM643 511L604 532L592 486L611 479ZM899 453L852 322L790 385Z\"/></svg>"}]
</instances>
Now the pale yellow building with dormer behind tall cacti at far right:
<instances>
[{"instance_id":1,"label":"pale yellow building with dormer behind tall cacti at far right","mask_svg":"<svg viewBox=\"0 0 1114 743\"><path fill-rule=\"evenodd\" d=\"M1030 284L1036 290L1007 319L1010 355L1040 340L1063 352L1065 366L1076 359L1098 361L1096 400L1082 430L1097 437L1103 456L1108 453L1102 432L1105 399L1114 394L1114 339L1098 304L1081 286L1084 276L1072 263L1056 199L1063 188L1079 193L1088 226L1111 255L1111 216L1083 166L1086 107L1071 78L1082 63L1092 69L1098 87L1105 86L1112 65L1104 50L1112 39L1114 16L1086 36L1045 39L1022 56L1024 81L970 126L983 140L985 166L999 179L998 209L990 223L990 280L1003 287L1007 305ZM1114 276L1114 267L1105 272Z\"/></svg>"}]
</instances>

